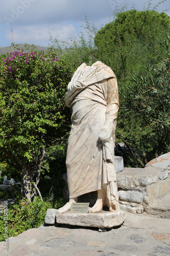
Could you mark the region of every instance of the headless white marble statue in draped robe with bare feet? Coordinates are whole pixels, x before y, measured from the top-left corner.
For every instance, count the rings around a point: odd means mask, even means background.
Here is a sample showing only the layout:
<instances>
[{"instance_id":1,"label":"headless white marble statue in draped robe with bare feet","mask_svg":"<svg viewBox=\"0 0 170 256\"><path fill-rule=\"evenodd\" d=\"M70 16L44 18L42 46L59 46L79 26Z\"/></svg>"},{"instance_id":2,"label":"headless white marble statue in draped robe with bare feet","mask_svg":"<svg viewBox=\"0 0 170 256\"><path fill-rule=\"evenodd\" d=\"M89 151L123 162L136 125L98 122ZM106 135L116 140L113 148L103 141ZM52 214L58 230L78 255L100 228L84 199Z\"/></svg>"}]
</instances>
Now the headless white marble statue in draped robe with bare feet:
<instances>
[{"instance_id":1,"label":"headless white marble statue in draped robe with bare feet","mask_svg":"<svg viewBox=\"0 0 170 256\"><path fill-rule=\"evenodd\" d=\"M78 197L98 191L89 212L118 210L114 169L115 127L118 89L113 71L101 61L83 63L71 78L65 103L72 108L71 132L67 147L69 202L58 210L67 212Z\"/></svg>"}]
</instances>

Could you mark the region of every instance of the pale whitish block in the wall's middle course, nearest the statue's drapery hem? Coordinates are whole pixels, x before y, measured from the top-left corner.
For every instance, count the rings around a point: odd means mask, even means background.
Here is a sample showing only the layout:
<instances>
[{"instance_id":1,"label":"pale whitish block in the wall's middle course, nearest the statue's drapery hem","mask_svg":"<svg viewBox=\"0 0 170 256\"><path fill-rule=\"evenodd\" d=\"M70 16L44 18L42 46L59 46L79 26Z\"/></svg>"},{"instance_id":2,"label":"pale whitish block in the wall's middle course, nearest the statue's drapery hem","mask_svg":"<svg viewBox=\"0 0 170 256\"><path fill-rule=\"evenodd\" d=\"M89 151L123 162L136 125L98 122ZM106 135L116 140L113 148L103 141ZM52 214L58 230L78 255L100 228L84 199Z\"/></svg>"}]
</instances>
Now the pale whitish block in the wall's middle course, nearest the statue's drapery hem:
<instances>
[{"instance_id":1,"label":"pale whitish block in the wall's middle course, nearest the statue's drapery hem","mask_svg":"<svg viewBox=\"0 0 170 256\"><path fill-rule=\"evenodd\" d=\"M143 200L143 194L139 191L133 190L120 190L118 191L119 200L132 203L141 203Z\"/></svg>"}]
</instances>

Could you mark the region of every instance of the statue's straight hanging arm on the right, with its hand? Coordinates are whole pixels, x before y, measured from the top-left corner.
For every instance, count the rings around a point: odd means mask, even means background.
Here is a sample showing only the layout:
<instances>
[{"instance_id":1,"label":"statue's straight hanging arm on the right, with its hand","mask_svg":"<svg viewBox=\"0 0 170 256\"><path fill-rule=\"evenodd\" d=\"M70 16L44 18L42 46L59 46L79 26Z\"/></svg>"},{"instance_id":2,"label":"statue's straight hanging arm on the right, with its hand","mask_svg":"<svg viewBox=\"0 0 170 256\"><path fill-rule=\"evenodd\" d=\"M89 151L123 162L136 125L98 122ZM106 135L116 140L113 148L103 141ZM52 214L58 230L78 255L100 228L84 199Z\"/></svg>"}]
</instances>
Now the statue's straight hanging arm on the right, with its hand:
<instances>
[{"instance_id":1,"label":"statue's straight hanging arm on the right, with its hand","mask_svg":"<svg viewBox=\"0 0 170 256\"><path fill-rule=\"evenodd\" d=\"M118 113L118 88L116 78L111 78L107 81L107 109L106 109L106 119L104 126L101 130L99 138L102 141L108 141L109 139L114 139L115 136L115 126L116 117Z\"/></svg>"}]
</instances>

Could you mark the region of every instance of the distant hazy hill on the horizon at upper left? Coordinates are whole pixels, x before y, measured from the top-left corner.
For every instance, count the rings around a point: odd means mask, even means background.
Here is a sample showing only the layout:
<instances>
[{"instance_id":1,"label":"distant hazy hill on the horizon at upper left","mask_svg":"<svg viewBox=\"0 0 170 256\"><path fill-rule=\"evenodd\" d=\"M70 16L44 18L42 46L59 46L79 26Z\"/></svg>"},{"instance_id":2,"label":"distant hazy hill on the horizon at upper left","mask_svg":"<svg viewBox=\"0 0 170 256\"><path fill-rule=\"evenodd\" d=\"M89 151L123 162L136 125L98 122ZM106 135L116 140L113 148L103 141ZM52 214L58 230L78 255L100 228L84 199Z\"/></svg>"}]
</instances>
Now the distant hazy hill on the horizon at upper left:
<instances>
[{"instance_id":1,"label":"distant hazy hill on the horizon at upper left","mask_svg":"<svg viewBox=\"0 0 170 256\"><path fill-rule=\"evenodd\" d=\"M31 45L28 45L31 47ZM34 46L34 51L47 51L47 47L42 47L42 46ZM14 51L16 51L16 48L23 49L25 52L29 52L28 47L25 47L24 44L18 44L17 46L14 45ZM0 55L5 54L7 52L12 52L12 46L7 46L7 47L2 47L0 46Z\"/></svg>"}]
</instances>

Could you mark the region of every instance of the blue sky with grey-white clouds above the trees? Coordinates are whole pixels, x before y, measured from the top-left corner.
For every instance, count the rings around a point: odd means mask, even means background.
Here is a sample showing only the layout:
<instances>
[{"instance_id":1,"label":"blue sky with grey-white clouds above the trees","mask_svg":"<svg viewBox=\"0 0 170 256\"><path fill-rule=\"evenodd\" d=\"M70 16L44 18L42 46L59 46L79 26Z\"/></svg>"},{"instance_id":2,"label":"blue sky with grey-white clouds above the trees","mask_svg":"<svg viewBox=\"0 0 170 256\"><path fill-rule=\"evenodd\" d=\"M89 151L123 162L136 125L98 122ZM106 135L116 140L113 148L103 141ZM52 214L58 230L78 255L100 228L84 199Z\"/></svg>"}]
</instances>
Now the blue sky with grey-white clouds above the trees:
<instances>
[{"instance_id":1,"label":"blue sky with grey-white clouds above the trees","mask_svg":"<svg viewBox=\"0 0 170 256\"><path fill-rule=\"evenodd\" d=\"M160 0L161 1L161 0ZM159 2L153 0L151 9ZM169 0L160 4L157 11L167 10ZM47 46L50 39L58 36L61 40L75 37L81 31L84 16L100 29L113 19L115 6L127 10L148 8L148 0L1 0L0 10L0 46L15 44L34 44ZM170 15L170 11L165 11Z\"/></svg>"}]
</instances>

